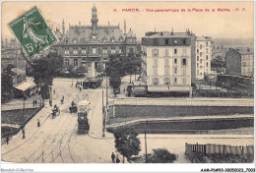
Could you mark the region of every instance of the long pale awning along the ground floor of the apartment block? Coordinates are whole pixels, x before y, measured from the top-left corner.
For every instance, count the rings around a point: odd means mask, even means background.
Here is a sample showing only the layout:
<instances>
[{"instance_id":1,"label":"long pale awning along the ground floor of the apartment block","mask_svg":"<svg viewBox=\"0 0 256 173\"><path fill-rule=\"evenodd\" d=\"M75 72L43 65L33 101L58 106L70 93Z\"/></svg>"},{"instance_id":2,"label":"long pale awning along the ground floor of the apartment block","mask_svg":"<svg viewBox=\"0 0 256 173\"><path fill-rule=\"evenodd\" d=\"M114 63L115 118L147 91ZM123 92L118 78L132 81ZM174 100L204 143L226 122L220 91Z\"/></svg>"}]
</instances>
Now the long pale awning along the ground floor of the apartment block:
<instances>
[{"instance_id":1,"label":"long pale awning along the ground floor of the apartment block","mask_svg":"<svg viewBox=\"0 0 256 173\"><path fill-rule=\"evenodd\" d=\"M170 91L190 91L190 87L188 86L177 86L177 87L168 87L168 86L148 86L148 91L156 91L156 92L170 92Z\"/></svg>"}]
</instances>

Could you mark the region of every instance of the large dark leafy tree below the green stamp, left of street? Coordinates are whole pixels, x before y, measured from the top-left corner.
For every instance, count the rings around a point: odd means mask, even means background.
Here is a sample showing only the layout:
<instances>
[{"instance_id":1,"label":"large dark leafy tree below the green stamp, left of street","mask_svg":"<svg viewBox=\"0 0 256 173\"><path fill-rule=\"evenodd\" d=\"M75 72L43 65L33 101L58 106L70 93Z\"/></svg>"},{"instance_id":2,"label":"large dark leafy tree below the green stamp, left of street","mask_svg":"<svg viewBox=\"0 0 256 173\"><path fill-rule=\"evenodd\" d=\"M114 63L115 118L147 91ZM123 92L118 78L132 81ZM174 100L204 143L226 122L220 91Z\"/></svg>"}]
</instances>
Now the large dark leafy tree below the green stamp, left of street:
<instances>
[{"instance_id":1,"label":"large dark leafy tree below the green stamp, left of street","mask_svg":"<svg viewBox=\"0 0 256 173\"><path fill-rule=\"evenodd\" d=\"M63 58L56 52L50 51L46 57L36 59L32 64L33 82L41 90L41 97L49 97L49 86L52 86L53 78L62 70Z\"/></svg>"}]
</instances>

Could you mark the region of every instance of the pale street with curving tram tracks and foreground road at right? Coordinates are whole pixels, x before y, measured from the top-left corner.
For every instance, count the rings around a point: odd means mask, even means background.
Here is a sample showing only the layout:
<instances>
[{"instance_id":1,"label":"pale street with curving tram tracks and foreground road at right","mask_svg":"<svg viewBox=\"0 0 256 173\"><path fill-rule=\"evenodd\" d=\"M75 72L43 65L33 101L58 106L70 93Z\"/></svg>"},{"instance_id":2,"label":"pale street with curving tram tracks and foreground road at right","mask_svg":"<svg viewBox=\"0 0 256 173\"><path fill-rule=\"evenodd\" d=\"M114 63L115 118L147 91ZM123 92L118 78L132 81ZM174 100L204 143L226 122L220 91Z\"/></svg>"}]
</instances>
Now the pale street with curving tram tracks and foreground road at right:
<instances>
[{"instance_id":1,"label":"pale street with curving tram tracks and foreground road at right","mask_svg":"<svg viewBox=\"0 0 256 173\"><path fill-rule=\"evenodd\" d=\"M16 163L110 163L115 152L112 134L102 138L102 87L82 89L72 87L71 79L54 79L53 105L60 106L60 115L52 119L52 107L44 107L26 125L26 139L22 132L9 144L2 144L2 160ZM60 99L64 95L64 104ZM77 113L70 113L71 101L91 101L88 135L77 134ZM105 104L105 96L104 96ZM37 127L37 119L41 126ZM139 135L141 152L145 153L144 135ZM237 140L238 139L238 140ZM253 135L147 135L148 153L153 148L165 147L179 155L177 163L189 162L185 156L185 143L189 144L253 144ZM117 152L115 152L117 153Z\"/></svg>"}]
</instances>

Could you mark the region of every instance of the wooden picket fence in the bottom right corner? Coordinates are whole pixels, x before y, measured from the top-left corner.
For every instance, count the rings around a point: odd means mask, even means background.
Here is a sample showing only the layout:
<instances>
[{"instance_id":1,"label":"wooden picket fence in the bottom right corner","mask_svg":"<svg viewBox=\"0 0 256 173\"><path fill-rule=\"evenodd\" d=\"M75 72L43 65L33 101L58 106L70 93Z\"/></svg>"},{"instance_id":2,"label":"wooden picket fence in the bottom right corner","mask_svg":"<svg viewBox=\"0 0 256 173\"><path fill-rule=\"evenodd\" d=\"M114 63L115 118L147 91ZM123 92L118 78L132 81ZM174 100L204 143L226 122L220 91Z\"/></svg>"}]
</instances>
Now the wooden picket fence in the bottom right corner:
<instances>
[{"instance_id":1,"label":"wooden picket fence in the bottom right corner","mask_svg":"<svg viewBox=\"0 0 256 173\"><path fill-rule=\"evenodd\" d=\"M226 145L226 144L185 144L187 152L200 152L200 153L220 153L220 154L235 154L247 155L254 154L254 145Z\"/></svg>"}]
</instances>

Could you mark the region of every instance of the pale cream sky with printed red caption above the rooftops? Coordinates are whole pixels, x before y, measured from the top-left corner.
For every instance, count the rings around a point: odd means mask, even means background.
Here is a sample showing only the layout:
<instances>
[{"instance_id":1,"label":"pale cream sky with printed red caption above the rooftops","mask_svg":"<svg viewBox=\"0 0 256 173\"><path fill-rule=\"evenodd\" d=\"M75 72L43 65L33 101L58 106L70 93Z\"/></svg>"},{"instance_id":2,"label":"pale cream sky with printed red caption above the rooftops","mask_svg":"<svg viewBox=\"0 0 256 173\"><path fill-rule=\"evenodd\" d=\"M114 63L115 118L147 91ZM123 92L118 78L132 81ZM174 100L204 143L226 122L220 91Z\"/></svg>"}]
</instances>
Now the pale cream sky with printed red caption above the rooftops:
<instances>
[{"instance_id":1,"label":"pale cream sky with printed red caption above the rooftops","mask_svg":"<svg viewBox=\"0 0 256 173\"><path fill-rule=\"evenodd\" d=\"M198 36L213 38L254 38L253 2L3 2L1 9L2 39L14 37L8 23L18 18L33 6L41 11L48 24L59 27L65 21L69 24L91 25L92 7L96 5L98 26L110 25L123 29L126 20L127 30L132 29L137 37L147 31L185 31L192 30ZM229 12L218 12L218 9ZM239 8L238 11L236 8ZM116 9L116 12L114 10ZM137 9L139 12L128 12ZM147 9L153 12L147 12ZM158 10L168 10L160 12ZM184 9L185 12L181 12ZM192 12L189 12L190 9ZM200 12L200 9L203 12ZM216 11L213 12L212 9ZM156 11L157 10L157 11ZM177 12L178 10L178 12ZM209 10L209 12L207 12Z\"/></svg>"}]
</instances>

